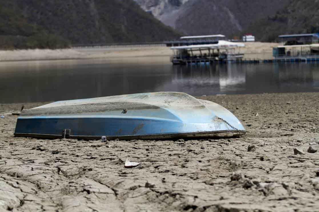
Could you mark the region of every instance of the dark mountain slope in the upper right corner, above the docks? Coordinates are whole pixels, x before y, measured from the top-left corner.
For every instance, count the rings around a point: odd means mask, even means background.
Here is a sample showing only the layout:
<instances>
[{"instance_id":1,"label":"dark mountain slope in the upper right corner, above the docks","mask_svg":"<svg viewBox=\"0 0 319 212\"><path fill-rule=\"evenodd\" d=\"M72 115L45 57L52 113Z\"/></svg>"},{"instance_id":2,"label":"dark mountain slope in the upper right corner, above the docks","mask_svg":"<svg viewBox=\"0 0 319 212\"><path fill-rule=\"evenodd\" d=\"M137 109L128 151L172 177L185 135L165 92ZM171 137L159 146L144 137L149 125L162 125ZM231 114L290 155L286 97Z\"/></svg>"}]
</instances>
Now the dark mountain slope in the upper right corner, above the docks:
<instances>
[{"instance_id":1,"label":"dark mountain slope in the upper right corner, above the docks","mask_svg":"<svg viewBox=\"0 0 319 212\"><path fill-rule=\"evenodd\" d=\"M318 10L318 0L293 0L276 15L254 22L245 32L254 33L262 41L274 41L281 34L317 33Z\"/></svg>"}]
</instances>

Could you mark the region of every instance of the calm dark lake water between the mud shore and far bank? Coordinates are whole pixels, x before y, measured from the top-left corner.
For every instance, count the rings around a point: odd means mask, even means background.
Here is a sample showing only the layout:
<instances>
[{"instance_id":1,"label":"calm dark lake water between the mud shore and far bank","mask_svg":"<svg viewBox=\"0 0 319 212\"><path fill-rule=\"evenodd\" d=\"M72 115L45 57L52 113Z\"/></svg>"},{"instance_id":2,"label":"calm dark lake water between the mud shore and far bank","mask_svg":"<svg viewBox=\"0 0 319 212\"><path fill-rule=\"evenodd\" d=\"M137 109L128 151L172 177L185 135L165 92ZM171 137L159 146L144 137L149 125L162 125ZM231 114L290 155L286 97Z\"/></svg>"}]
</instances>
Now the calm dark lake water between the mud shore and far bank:
<instances>
[{"instance_id":1,"label":"calm dark lake water between the mud shore and far bank","mask_svg":"<svg viewBox=\"0 0 319 212\"><path fill-rule=\"evenodd\" d=\"M190 95L319 91L319 64L173 66L99 60L0 63L0 102L42 102L155 91Z\"/></svg>"}]
</instances>

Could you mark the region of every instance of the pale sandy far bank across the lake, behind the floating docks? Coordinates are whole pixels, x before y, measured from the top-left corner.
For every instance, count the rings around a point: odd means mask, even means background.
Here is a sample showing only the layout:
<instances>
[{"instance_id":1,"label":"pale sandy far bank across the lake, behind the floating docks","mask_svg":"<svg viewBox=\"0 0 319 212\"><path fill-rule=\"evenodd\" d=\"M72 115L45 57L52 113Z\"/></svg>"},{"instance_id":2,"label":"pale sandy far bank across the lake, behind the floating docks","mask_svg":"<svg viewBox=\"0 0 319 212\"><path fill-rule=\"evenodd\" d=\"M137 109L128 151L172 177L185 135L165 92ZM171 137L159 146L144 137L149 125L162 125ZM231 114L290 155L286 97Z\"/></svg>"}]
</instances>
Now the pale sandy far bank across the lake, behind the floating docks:
<instances>
[{"instance_id":1,"label":"pale sandy far bank across the lake, behind the floating docks","mask_svg":"<svg viewBox=\"0 0 319 212\"><path fill-rule=\"evenodd\" d=\"M245 53L245 58L271 58L272 47L277 43L245 43L240 51ZM136 57L167 57L172 51L166 46L141 46L141 47L117 47L117 48L73 48L73 49L35 49L35 50L14 50L0 51L0 61L17 60L65 60L65 59L92 59L105 58L114 60L116 58ZM123 60L125 61L125 60Z\"/></svg>"}]
</instances>

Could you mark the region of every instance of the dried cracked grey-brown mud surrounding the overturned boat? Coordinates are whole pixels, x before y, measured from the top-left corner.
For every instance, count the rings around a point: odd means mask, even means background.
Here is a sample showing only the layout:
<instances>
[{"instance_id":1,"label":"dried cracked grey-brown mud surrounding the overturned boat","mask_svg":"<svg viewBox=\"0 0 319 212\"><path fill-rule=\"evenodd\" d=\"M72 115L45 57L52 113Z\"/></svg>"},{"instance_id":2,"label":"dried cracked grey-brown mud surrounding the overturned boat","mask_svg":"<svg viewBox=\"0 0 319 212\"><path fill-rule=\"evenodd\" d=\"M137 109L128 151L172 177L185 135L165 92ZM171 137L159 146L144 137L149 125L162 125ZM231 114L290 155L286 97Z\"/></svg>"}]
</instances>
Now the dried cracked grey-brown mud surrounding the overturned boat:
<instances>
[{"instance_id":1,"label":"dried cracked grey-brown mud surrounding the overturned boat","mask_svg":"<svg viewBox=\"0 0 319 212\"><path fill-rule=\"evenodd\" d=\"M0 211L319 211L319 152L308 152L319 148L318 97L199 97L244 124L248 133L229 139L15 138L17 116L5 115ZM21 106L1 104L0 114ZM141 164L124 168L126 159Z\"/></svg>"}]
</instances>

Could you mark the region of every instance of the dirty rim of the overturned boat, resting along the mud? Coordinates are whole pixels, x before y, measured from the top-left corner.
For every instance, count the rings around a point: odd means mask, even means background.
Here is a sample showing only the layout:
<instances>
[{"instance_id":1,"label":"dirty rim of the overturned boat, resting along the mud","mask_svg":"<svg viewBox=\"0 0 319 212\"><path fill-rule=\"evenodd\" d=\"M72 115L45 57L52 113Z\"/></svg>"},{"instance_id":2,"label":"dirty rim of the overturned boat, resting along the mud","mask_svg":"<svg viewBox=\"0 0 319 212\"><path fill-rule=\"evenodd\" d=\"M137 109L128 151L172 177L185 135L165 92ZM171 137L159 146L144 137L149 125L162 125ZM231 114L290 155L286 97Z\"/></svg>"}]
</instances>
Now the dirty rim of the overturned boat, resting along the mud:
<instances>
[{"instance_id":1,"label":"dirty rim of the overturned boat, resting along the mud","mask_svg":"<svg viewBox=\"0 0 319 212\"><path fill-rule=\"evenodd\" d=\"M187 132L187 133L165 133L165 134L149 134L149 135L129 135L129 136L107 136L108 140L150 140L150 139L176 139L176 138L231 138L246 134L246 131L208 131L208 132ZM31 138L48 138L48 139L83 139L83 140L99 140L101 136L76 136L76 135L49 135L49 134L33 134L33 133L14 133L15 137L31 137Z\"/></svg>"}]
</instances>

